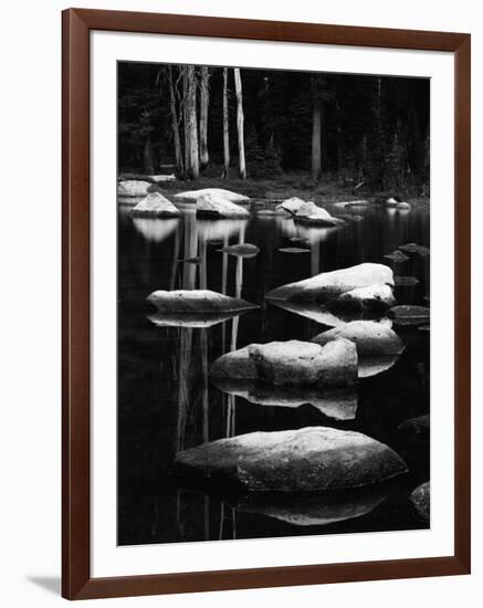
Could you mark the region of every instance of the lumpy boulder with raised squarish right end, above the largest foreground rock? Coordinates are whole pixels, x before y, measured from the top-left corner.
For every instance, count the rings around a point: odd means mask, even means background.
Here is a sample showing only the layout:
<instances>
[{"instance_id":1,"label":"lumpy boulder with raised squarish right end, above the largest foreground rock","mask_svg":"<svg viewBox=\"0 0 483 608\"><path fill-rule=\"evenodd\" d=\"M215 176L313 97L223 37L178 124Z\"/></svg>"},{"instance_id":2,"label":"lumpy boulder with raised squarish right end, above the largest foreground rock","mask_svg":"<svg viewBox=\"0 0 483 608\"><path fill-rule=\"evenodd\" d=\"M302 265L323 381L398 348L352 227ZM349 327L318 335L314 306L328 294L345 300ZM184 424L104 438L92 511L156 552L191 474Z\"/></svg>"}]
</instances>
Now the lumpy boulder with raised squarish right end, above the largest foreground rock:
<instances>
[{"instance_id":1,"label":"lumpy boulder with raised squarish right end, above the largest foreground rock","mask_svg":"<svg viewBox=\"0 0 483 608\"><path fill-rule=\"evenodd\" d=\"M357 381L357 350L344 338L325 346L295 339L251 344L241 352L222 355L211 375L256 378L279 386L347 386Z\"/></svg>"}]
</instances>

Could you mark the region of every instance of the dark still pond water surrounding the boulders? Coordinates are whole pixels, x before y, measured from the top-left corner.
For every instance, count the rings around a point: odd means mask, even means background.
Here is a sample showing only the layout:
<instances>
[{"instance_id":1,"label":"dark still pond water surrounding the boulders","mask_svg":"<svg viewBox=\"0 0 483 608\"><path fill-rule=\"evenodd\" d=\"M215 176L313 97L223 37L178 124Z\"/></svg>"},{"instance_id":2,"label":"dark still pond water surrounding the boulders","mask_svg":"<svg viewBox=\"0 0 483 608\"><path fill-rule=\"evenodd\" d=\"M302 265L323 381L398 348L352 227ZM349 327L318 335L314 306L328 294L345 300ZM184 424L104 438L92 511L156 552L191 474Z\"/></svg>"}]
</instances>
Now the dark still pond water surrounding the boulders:
<instances>
[{"instance_id":1,"label":"dark still pond water surrounding the boulders","mask_svg":"<svg viewBox=\"0 0 483 608\"><path fill-rule=\"evenodd\" d=\"M429 479L429 445L408 438L398 426L429 412L429 332L396 328L406 350L392 367L360 379L353 394L345 394L344 403L350 407L337 418L326 413L334 413L334 406L337 413L340 396L332 401L329 397L326 409L266 405L276 402L276 395L252 396L258 402L251 402L246 394L213 386L209 369L221 354L248 344L308 340L324 331L326 326L303 314L266 303L264 294L324 271L389 263L384 254L407 242L429 247L429 208L357 209L350 213L363 219L337 229L297 228L287 218L259 216L258 209L252 202L250 220L210 221L197 220L189 206L174 220L133 219L132 205L119 207L120 545L426 527L413 517L408 496ZM305 242L291 240L297 237ZM242 241L256 244L260 253L242 259L217 251L223 243ZM311 251L279 251L287 247ZM179 262L190 258L200 258L200 263ZM397 289L398 303L428 305L428 261L411 259L392 269L420 280L416 287ZM157 326L148 318L153 311L146 297L155 290L174 289L210 289L261 308L210 327ZM283 504L270 495L208 496L177 485L171 475L178 450L251 431L307 426L366 433L400 453L410 473L375 491L342 493L325 502L317 496L304 502L302 496Z\"/></svg>"}]
</instances>

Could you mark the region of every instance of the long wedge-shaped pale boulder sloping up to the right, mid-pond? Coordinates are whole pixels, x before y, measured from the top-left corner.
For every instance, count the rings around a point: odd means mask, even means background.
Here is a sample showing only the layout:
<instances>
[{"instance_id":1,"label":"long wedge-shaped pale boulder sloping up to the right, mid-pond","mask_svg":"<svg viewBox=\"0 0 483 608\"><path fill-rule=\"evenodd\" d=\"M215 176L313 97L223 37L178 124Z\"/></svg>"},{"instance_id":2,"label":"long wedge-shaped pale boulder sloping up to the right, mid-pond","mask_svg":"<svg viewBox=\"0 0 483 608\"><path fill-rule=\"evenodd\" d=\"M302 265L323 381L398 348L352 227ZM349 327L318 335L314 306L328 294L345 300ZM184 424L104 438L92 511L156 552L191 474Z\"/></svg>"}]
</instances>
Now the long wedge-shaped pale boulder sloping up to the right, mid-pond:
<instances>
[{"instance_id":1,"label":"long wedge-shaped pale boulder sloping up to the right, mid-pond","mask_svg":"<svg viewBox=\"0 0 483 608\"><path fill-rule=\"evenodd\" d=\"M384 284L391 286L395 284L392 270L384 264L365 262L282 285L269 292L266 297L269 300L327 302L350 290Z\"/></svg>"}]
</instances>

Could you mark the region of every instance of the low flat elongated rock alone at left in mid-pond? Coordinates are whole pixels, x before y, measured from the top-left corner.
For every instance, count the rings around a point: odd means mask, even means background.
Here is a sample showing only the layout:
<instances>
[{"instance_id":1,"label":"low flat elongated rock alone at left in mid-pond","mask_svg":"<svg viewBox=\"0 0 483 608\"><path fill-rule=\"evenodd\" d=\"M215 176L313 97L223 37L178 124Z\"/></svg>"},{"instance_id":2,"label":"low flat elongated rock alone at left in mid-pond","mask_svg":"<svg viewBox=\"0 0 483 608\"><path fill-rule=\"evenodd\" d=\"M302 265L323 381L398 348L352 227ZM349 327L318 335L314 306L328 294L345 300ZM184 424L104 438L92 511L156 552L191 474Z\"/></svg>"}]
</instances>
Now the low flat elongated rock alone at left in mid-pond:
<instances>
[{"instance_id":1,"label":"low flat elongated rock alone at left in mid-pond","mask_svg":"<svg viewBox=\"0 0 483 608\"><path fill-rule=\"evenodd\" d=\"M156 291L147 301L154 304L159 313L210 315L220 313L240 313L258 308L238 297L230 297L210 290Z\"/></svg>"}]
</instances>

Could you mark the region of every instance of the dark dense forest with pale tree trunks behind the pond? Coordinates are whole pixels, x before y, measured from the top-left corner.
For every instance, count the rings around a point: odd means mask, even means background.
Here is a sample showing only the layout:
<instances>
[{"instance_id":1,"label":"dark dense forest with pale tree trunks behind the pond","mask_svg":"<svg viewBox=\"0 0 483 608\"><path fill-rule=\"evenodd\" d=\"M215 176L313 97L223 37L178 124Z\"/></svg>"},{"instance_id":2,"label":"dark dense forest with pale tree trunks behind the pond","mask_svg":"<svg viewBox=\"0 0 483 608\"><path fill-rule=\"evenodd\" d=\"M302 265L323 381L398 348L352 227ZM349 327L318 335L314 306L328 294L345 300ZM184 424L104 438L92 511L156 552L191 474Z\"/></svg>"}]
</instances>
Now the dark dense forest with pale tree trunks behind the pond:
<instances>
[{"instance_id":1,"label":"dark dense forest with pale tree trunks behind the pond","mask_svg":"<svg viewBox=\"0 0 483 608\"><path fill-rule=\"evenodd\" d=\"M429 80L118 64L119 171L429 195Z\"/></svg>"}]
</instances>

